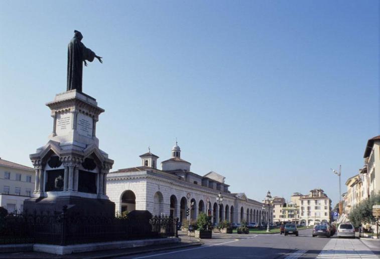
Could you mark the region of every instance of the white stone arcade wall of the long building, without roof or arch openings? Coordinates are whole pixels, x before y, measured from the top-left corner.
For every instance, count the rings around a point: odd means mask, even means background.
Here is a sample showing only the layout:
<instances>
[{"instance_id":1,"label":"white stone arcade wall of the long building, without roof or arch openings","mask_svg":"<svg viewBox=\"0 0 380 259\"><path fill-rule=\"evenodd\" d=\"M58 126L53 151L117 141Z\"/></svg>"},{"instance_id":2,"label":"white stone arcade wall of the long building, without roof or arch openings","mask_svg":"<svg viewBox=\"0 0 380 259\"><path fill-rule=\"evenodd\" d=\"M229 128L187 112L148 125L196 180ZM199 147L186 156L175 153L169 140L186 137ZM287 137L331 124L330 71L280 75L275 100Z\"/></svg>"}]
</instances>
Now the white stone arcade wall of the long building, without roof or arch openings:
<instances>
[{"instance_id":1,"label":"white stone arcade wall of the long building, without roof or arch openings","mask_svg":"<svg viewBox=\"0 0 380 259\"><path fill-rule=\"evenodd\" d=\"M138 174L138 175L135 175ZM115 178L116 177L116 178ZM181 199L185 197L187 200L186 206L190 200L195 200L194 210L192 210L192 220L196 219L199 215L199 203L202 200L204 204L204 212L207 212L207 198L210 200L211 216L215 218L215 222L218 223L219 220L227 219L230 221L231 206L233 207L233 222L240 223L240 207L244 208L244 219L246 219L246 210L249 209L249 220L248 221L259 221L259 215L257 211L262 210L262 203L260 202L250 202L246 200L240 200L233 194L222 192L222 215L219 215L219 203L216 200L218 190L211 189L208 187L201 186L201 181L198 185L185 182L176 179L161 178L159 174L150 175L146 171L143 172L133 172L133 173L109 173L107 177L107 195L109 199L115 202L116 211L120 211L120 198L124 191L131 190L136 195L136 209L138 210L149 210L152 214L156 215L170 215L170 197L175 196L176 206L174 208L174 215L180 217L181 215ZM187 194L190 198L187 199ZM156 198L155 198L156 195ZM162 197L160 199L159 197ZM158 204L160 203L160 204ZM214 213L214 204L216 204L216 211ZM228 205L228 215L225 217L225 209ZM252 210L252 214L250 214ZM254 214L255 211L255 214ZM272 209L273 211L273 209ZM185 215L185 209L183 209L182 214ZM195 217L195 218L194 218Z\"/></svg>"}]
</instances>

